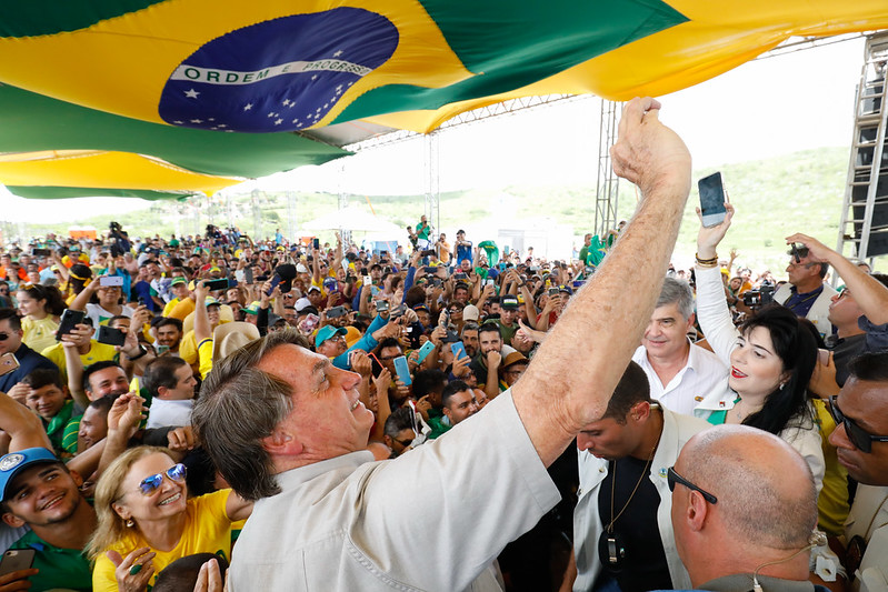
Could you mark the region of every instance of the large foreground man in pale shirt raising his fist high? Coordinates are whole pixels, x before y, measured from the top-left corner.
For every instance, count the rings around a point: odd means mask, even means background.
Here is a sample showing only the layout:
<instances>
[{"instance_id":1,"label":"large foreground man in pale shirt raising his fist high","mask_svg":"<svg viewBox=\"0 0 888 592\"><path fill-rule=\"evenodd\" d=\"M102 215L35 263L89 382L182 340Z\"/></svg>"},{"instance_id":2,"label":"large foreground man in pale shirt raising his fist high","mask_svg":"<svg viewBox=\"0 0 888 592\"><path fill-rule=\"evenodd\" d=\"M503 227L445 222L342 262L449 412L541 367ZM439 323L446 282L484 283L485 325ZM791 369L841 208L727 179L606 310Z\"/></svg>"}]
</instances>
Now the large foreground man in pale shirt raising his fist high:
<instances>
[{"instance_id":1,"label":"large foreground man in pale shirt raising his fist high","mask_svg":"<svg viewBox=\"0 0 888 592\"><path fill-rule=\"evenodd\" d=\"M232 592L499 590L490 563L558 501L546 466L605 413L660 291L690 154L659 122L659 108L630 101L611 149L615 171L643 197L633 221L522 379L447 437L372 462L365 448L373 414L359 401L360 377L292 332L213 368L192 421L235 491L257 500L231 565ZM590 343L582 364L579 342ZM410 503L392 509L393 499Z\"/></svg>"}]
</instances>

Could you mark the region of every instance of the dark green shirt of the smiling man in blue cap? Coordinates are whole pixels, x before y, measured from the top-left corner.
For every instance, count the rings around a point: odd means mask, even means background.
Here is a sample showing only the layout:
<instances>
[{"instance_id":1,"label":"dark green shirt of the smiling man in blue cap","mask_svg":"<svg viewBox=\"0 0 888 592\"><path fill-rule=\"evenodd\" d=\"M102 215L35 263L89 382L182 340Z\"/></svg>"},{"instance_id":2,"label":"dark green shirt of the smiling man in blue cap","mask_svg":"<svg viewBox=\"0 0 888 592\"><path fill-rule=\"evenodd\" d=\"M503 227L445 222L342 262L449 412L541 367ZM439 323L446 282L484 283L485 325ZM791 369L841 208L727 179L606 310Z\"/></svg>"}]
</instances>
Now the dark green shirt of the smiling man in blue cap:
<instances>
[{"instance_id":1,"label":"dark green shirt of the smiling man in blue cap","mask_svg":"<svg viewBox=\"0 0 888 592\"><path fill-rule=\"evenodd\" d=\"M84 502L86 503L86 502ZM33 568L40 570L28 579L31 592L42 590L92 590L92 570L89 560L77 549L59 549L52 546L30 531L12 543L10 549L33 549Z\"/></svg>"}]
</instances>

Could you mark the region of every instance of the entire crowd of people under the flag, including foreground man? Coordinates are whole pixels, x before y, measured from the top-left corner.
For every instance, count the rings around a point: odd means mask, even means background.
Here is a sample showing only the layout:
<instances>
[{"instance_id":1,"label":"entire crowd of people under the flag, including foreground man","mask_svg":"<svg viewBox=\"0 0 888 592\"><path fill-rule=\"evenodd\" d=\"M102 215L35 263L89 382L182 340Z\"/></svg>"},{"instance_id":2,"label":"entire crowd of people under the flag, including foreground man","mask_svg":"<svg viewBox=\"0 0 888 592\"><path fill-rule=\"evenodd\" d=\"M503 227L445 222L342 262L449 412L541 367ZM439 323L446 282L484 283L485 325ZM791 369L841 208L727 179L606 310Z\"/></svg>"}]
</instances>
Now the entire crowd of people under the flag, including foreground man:
<instances>
[{"instance_id":1,"label":"entire crowd of people under the flag, including foreground man","mask_svg":"<svg viewBox=\"0 0 888 592\"><path fill-rule=\"evenodd\" d=\"M888 590L888 278L800 233L734 270L731 204L674 270L659 108L575 259L426 217L8 245L0 590Z\"/></svg>"}]
</instances>

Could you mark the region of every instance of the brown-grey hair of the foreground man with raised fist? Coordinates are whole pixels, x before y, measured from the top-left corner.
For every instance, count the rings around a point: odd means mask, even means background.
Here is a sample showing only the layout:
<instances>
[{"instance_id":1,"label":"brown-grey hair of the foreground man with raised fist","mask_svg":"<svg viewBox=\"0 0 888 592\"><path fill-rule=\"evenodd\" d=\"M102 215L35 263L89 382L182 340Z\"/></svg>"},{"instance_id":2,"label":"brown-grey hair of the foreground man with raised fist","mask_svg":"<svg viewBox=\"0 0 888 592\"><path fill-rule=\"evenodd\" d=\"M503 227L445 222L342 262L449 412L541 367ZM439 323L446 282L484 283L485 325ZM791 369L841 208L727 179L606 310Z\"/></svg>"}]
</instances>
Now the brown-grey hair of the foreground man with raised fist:
<instances>
[{"instance_id":1,"label":"brown-grey hair of the foreground man with raised fist","mask_svg":"<svg viewBox=\"0 0 888 592\"><path fill-rule=\"evenodd\" d=\"M243 499L280 492L262 439L292 411L292 387L256 368L279 345L310 349L293 329L273 331L213 364L200 388L191 423L216 468Z\"/></svg>"}]
</instances>

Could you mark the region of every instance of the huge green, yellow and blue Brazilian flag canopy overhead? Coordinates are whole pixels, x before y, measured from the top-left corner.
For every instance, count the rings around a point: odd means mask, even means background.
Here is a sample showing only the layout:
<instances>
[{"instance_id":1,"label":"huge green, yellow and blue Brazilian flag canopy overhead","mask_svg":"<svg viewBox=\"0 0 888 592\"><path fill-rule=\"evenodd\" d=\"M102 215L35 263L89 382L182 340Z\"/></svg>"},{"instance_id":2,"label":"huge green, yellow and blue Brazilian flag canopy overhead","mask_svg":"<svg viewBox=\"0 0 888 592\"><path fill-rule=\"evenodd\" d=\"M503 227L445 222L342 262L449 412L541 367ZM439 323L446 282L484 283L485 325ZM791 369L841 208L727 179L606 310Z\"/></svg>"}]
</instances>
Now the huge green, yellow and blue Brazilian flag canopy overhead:
<instances>
[{"instance_id":1,"label":"huge green, yellow and blue Brazilian flag canopy overhead","mask_svg":"<svg viewBox=\"0 0 888 592\"><path fill-rule=\"evenodd\" d=\"M330 126L427 132L516 97L660 96L791 36L886 27L885 0L4 2L0 182L210 194L347 154L316 141Z\"/></svg>"}]
</instances>

